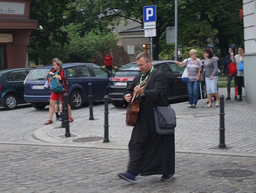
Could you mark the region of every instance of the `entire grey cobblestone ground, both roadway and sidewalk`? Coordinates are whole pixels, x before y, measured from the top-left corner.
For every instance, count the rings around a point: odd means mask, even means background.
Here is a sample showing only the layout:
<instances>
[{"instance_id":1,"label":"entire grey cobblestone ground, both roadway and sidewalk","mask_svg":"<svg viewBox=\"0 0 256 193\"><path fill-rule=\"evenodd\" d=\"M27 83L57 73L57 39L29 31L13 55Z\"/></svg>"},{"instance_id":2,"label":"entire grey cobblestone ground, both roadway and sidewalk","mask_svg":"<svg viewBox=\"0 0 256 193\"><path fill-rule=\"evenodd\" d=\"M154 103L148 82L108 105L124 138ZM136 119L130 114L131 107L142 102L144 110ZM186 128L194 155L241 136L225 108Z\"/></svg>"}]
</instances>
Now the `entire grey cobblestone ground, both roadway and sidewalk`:
<instances>
[{"instance_id":1,"label":"entire grey cobblestone ground, both roadway and sidewalk","mask_svg":"<svg viewBox=\"0 0 256 193\"><path fill-rule=\"evenodd\" d=\"M220 88L219 93L227 92ZM160 175L138 176L137 183L117 177L129 161L132 127L125 125L124 107L108 105L109 143L102 143L102 102L94 103L94 120L89 120L86 105L72 111L71 137L65 137L61 121L43 125L48 108L0 108L0 192L255 193L256 107L243 99L236 102L232 97L224 103L227 148L223 149L218 148L219 108L206 108L207 99L203 108L200 100L195 109L187 108L187 102L171 105L177 116L176 174L165 182ZM84 142L88 137L98 141Z\"/></svg>"}]
</instances>

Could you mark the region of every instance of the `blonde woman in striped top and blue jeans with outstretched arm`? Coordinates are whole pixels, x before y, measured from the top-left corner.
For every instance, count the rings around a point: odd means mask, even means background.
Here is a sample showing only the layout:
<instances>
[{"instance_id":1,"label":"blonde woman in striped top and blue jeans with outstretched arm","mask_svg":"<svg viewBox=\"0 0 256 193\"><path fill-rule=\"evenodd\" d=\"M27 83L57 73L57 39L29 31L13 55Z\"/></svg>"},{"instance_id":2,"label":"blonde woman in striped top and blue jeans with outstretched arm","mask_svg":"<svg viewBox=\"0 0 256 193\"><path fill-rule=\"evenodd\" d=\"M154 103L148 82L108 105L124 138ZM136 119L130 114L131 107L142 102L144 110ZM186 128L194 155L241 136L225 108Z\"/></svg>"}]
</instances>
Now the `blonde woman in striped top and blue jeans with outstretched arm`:
<instances>
[{"instance_id":1,"label":"blonde woman in striped top and blue jeans with outstretched arm","mask_svg":"<svg viewBox=\"0 0 256 193\"><path fill-rule=\"evenodd\" d=\"M187 66L188 71L188 81L187 81L187 90L189 92L189 108L196 108L199 95L199 81L200 81L200 72L202 71L203 63L199 58L197 58L197 51L192 49L189 51L191 58L186 58L182 62L175 61L179 66Z\"/></svg>"}]
</instances>

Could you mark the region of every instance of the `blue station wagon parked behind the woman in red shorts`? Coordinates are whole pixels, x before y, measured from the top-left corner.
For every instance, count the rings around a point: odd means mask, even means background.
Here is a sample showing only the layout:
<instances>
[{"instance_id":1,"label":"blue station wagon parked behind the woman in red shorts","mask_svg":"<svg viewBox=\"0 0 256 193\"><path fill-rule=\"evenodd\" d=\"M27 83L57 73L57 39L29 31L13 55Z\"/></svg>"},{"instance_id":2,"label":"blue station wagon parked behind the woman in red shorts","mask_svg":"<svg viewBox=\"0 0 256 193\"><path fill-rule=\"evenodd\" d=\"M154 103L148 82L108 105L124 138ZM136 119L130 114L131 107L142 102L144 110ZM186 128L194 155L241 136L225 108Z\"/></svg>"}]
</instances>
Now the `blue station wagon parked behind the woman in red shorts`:
<instances>
[{"instance_id":1,"label":"blue station wagon parked behind the woman in red shorts","mask_svg":"<svg viewBox=\"0 0 256 193\"><path fill-rule=\"evenodd\" d=\"M69 105L72 109L79 109L84 102L88 102L89 86L92 84L93 101L103 100L107 95L107 85L111 72L92 63L64 63L62 68L66 72L69 88ZM24 81L24 99L32 103L36 109L43 109L50 104L51 92L45 88L46 76L53 69L53 65L33 69Z\"/></svg>"}]
</instances>

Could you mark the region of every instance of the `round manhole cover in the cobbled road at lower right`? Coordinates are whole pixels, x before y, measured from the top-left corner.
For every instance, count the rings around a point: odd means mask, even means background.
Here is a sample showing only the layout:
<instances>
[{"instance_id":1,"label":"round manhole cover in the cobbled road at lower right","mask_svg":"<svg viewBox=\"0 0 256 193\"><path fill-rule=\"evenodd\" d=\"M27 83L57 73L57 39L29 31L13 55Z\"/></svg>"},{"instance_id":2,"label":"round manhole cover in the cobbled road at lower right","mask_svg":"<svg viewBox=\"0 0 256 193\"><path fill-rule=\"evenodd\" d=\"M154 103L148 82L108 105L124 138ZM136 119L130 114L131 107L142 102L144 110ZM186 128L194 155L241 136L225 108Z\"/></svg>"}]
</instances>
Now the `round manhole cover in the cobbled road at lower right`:
<instances>
[{"instance_id":1,"label":"round manhole cover in the cobbled road at lower right","mask_svg":"<svg viewBox=\"0 0 256 193\"><path fill-rule=\"evenodd\" d=\"M209 173L216 177L245 177L254 174L252 171L238 169L214 170Z\"/></svg>"}]
</instances>

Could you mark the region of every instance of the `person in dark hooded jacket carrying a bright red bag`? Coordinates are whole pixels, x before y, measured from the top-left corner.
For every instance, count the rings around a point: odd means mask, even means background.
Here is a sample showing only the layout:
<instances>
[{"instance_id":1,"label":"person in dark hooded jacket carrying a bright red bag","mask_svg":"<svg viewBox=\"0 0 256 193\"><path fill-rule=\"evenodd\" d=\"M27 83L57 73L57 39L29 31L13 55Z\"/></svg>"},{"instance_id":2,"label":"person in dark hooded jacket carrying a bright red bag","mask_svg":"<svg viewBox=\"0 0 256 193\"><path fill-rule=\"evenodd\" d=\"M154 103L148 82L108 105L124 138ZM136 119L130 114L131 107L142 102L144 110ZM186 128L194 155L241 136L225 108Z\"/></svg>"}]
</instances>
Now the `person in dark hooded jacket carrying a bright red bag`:
<instances>
[{"instance_id":1,"label":"person in dark hooded jacket carrying a bright red bag","mask_svg":"<svg viewBox=\"0 0 256 193\"><path fill-rule=\"evenodd\" d=\"M233 77L234 77L234 81L235 81L235 86L237 85L235 74L231 74L231 72L228 69L228 65L232 62L231 56L233 57L235 52L236 52L236 48L234 46L230 46L228 48L228 54L227 54L227 56L224 60L222 76L225 77L225 71L227 69L227 91L228 91L228 96L227 96L227 98L225 98L225 101L230 101L231 100L231 97L230 97L230 83L231 83ZM236 92L235 92L235 98L236 98L237 89L235 89L235 90L236 90Z\"/></svg>"}]
</instances>

